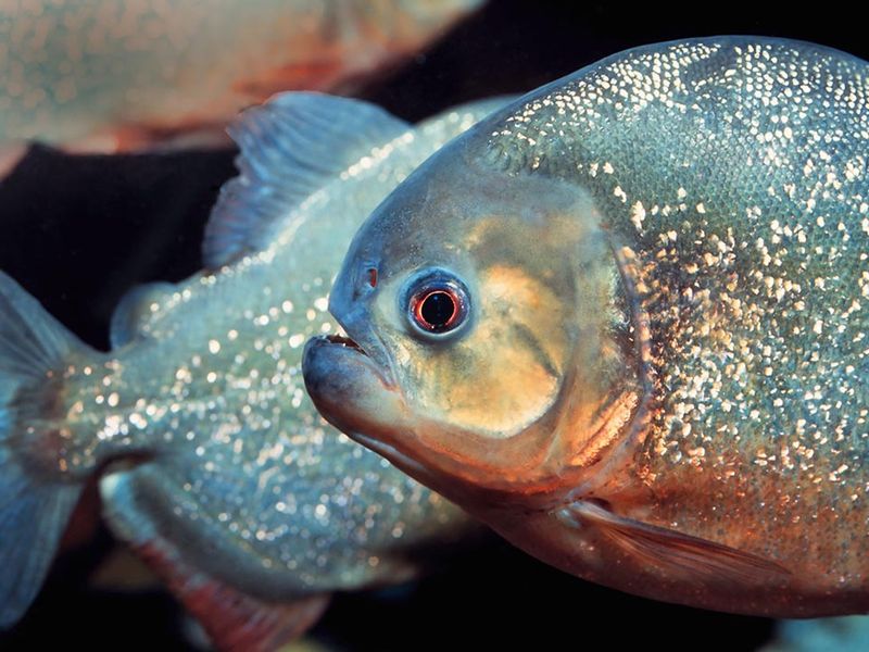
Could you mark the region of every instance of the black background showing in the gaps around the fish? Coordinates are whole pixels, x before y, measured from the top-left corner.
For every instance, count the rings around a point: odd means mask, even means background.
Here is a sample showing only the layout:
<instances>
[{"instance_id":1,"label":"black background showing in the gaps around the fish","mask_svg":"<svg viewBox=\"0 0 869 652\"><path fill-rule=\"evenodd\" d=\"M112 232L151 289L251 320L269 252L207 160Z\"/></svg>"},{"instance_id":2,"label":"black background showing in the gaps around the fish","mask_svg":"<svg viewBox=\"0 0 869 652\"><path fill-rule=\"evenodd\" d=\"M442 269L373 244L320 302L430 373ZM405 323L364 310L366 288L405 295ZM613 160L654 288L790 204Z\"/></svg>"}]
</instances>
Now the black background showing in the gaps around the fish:
<instances>
[{"instance_id":1,"label":"black background showing in the gaps around the fish","mask_svg":"<svg viewBox=\"0 0 869 652\"><path fill-rule=\"evenodd\" d=\"M807 12L795 4L650 2L638 9L621 2L491 0L364 97L416 121L466 100L530 90L618 50L684 36L783 36L869 58L860 23L834 3L813 4ZM232 156L73 158L34 149L0 183L0 269L86 341L105 348L109 317L125 289L179 280L199 268L202 228L221 184L235 173ZM110 547L100 529L88 546L62 555L25 619L0 636L0 648L60 642L185 649L178 609L168 597L88 587L88 575ZM492 538L410 587L337 597L313 636L348 650L596 648L592 636L607 647L754 650L770 630L771 622L763 618L592 586Z\"/></svg>"}]
</instances>

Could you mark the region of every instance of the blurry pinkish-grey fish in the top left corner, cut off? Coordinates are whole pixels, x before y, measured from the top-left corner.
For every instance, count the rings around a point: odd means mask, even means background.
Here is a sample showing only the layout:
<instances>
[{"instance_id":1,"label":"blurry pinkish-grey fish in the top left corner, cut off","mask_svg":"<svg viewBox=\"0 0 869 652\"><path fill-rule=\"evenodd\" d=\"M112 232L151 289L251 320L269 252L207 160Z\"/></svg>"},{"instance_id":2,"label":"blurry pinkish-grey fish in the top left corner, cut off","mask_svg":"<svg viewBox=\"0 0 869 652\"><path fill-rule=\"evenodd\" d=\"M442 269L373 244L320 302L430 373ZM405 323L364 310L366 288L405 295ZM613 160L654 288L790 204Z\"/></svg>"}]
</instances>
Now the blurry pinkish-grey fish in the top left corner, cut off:
<instances>
[{"instance_id":1,"label":"blurry pinkish-grey fish in the top left corner, cut off","mask_svg":"<svg viewBox=\"0 0 869 652\"><path fill-rule=\"evenodd\" d=\"M72 152L224 143L278 90L351 92L482 0L0 0L0 176Z\"/></svg>"}]
</instances>

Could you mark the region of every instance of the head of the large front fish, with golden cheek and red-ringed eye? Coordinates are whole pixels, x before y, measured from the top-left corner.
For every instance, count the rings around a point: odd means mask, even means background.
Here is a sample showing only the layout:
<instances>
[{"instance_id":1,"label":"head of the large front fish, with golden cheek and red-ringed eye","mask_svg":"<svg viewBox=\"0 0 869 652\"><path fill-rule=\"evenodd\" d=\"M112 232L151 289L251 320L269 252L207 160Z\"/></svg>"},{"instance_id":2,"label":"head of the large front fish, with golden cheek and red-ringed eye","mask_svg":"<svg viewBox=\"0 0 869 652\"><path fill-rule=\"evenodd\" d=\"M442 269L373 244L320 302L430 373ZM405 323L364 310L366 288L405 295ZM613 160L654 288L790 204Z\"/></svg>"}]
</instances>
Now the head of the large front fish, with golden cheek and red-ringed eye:
<instances>
[{"instance_id":1,"label":"head of the large front fish, with golden cheek and red-ringed eye","mask_svg":"<svg viewBox=\"0 0 869 652\"><path fill-rule=\"evenodd\" d=\"M449 498L540 490L637 384L616 260L581 189L445 149L357 233L330 296L348 337L308 342L305 381Z\"/></svg>"}]
</instances>

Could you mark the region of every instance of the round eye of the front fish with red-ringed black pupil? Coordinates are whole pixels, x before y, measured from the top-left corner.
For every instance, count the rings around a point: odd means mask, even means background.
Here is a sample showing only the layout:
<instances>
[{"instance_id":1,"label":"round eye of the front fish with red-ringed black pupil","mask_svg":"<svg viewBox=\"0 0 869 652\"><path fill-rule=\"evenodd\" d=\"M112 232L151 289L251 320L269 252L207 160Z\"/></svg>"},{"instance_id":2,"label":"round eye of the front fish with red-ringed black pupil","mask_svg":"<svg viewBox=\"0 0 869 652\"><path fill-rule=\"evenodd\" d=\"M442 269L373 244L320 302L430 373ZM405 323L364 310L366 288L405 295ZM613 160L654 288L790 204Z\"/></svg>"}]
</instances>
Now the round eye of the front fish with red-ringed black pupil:
<instances>
[{"instance_id":1,"label":"round eye of the front fish with red-ringed black pupil","mask_svg":"<svg viewBox=\"0 0 869 652\"><path fill-rule=\"evenodd\" d=\"M467 322L468 292L449 272L437 269L413 278L404 296L407 318L421 335L444 336Z\"/></svg>"}]
</instances>

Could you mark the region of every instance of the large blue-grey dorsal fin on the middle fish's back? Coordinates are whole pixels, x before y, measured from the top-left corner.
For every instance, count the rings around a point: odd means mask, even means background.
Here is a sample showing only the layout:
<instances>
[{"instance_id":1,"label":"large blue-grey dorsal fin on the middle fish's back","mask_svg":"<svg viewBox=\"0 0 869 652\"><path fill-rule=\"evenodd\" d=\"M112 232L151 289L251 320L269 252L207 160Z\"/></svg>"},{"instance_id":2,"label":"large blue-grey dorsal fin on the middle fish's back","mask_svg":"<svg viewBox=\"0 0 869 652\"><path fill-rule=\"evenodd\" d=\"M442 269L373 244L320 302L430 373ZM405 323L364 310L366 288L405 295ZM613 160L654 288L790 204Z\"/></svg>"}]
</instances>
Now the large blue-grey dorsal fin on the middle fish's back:
<instances>
[{"instance_id":1,"label":"large blue-grey dorsal fin on the middle fish's back","mask_svg":"<svg viewBox=\"0 0 869 652\"><path fill-rule=\"evenodd\" d=\"M268 247L292 210L410 126L379 106L312 92L277 95L229 127L239 176L221 189L202 244L210 268Z\"/></svg>"}]
</instances>

